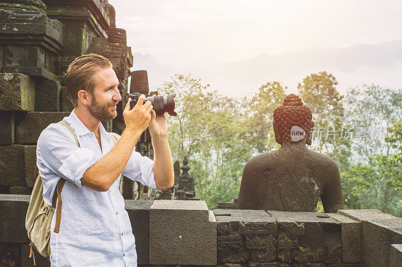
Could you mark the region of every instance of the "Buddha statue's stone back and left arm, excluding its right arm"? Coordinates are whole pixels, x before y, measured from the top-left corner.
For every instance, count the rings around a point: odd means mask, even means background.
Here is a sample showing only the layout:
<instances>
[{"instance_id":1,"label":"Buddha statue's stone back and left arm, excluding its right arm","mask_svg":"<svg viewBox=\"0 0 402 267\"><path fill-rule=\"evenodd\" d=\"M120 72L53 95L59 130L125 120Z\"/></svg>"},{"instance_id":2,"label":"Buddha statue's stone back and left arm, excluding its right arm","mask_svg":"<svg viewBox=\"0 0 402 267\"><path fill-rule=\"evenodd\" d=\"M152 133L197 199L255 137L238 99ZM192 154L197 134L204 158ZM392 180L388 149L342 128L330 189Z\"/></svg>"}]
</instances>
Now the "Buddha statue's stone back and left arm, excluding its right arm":
<instances>
[{"instance_id":1,"label":"Buddha statue's stone back and left arm, excluding its right arm","mask_svg":"<svg viewBox=\"0 0 402 267\"><path fill-rule=\"evenodd\" d=\"M328 174L338 167L300 145L252 158L244 168L237 208L315 211Z\"/></svg>"}]
</instances>

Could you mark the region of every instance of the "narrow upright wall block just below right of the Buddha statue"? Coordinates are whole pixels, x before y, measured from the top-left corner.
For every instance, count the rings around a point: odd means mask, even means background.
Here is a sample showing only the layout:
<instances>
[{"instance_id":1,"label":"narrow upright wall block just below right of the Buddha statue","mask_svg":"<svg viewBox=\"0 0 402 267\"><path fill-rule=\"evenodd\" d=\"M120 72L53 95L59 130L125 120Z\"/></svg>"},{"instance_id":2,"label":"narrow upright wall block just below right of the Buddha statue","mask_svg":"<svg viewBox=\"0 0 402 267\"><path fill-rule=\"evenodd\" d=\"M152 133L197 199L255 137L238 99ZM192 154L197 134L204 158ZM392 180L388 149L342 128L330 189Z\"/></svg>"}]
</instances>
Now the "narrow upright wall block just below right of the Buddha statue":
<instances>
[{"instance_id":1,"label":"narrow upright wall block just below right of the Buddha statue","mask_svg":"<svg viewBox=\"0 0 402 267\"><path fill-rule=\"evenodd\" d=\"M337 213L327 213L331 218L342 223L342 261L346 263L363 262L363 233L361 223Z\"/></svg>"}]
</instances>

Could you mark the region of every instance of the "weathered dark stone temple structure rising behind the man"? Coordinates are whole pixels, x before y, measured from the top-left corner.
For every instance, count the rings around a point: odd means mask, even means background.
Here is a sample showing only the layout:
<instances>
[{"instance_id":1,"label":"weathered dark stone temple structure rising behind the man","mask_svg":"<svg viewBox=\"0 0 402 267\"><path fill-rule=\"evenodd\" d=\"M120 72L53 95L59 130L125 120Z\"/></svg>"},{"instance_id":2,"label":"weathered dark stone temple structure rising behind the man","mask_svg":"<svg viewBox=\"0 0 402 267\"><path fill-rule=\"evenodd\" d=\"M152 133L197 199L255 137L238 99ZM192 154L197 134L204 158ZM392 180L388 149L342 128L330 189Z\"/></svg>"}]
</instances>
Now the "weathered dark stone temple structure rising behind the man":
<instances>
[{"instance_id":1,"label":"weathered dark stone temple structure rising behind the man","mask_svg":"<svg viewBox=\"0 0 402 267\"><path fill-rule=\"evenodd\" d=\"M115 10L107 0L0 3L0 193L31 193L38 137L72 111L64 75L76 57L88 53L112 62L122 99L127 101L130 75L130 92L148 93L146 71L130 72L133 56L126 31L116 28ZM123 132L124 106L121 101L118 116L103 122L108 132ZM148 132L136 149L153 157ZM139 189L147 190L123 177L126 199L138 198Z\"/></svg>"}]
</instances>

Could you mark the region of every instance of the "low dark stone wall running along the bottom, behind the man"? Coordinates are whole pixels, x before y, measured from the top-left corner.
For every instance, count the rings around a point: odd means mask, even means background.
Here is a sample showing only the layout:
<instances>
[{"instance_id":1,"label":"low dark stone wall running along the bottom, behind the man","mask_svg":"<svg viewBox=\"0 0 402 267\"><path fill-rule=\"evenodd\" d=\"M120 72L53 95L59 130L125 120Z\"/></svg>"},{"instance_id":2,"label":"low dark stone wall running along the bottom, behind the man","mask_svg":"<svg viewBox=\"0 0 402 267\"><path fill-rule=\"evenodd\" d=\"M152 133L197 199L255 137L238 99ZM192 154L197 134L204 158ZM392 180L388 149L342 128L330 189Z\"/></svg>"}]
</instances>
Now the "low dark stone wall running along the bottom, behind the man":
<instances>
[{"instance_id":1,"label":"low dark stone wall running along the bottom, behind the man","mask_svg":"<svg viewBox=\"0 0 402 267\"><path fill-rule=\"evenodd\" d=\"M0 194L0 265L32 266L29 195ZM402 218L338 213L208 210L205 201L126 200L139 266L400 266ZM49 261L36 253L38 266Z\"/></svg>"}]
</instances>

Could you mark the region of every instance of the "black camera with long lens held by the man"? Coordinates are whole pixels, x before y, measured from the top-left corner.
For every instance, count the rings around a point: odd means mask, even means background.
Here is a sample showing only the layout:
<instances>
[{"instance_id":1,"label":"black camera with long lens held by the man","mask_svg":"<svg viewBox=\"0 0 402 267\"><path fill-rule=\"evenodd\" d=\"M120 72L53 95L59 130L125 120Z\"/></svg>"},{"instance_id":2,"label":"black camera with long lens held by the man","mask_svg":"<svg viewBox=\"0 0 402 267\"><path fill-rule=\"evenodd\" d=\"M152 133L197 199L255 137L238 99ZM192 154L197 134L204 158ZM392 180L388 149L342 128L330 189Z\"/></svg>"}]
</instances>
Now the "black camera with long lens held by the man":
<instances>
[{"instance_id":1,"label":"black camera with long lens held by the man","mask_svg":"<svg viewBox=\"0 0 402 267\"><path fill-rule=\"evenodd\" d=\"M129 97L131 98L130 109L134 108L134 106L137 104L140 96L141 96L140 93L129 94ZM153 110L155 111L155 113L157 115L168 113L170 116L177 116L177 113L174 112L174 99L173 98L175 96L176 96L176 93L171 93L167 97L150 96L144 100L144 103L146 101L150 101L151 105L154 107Z\"/></svg>"}]
</instances>

